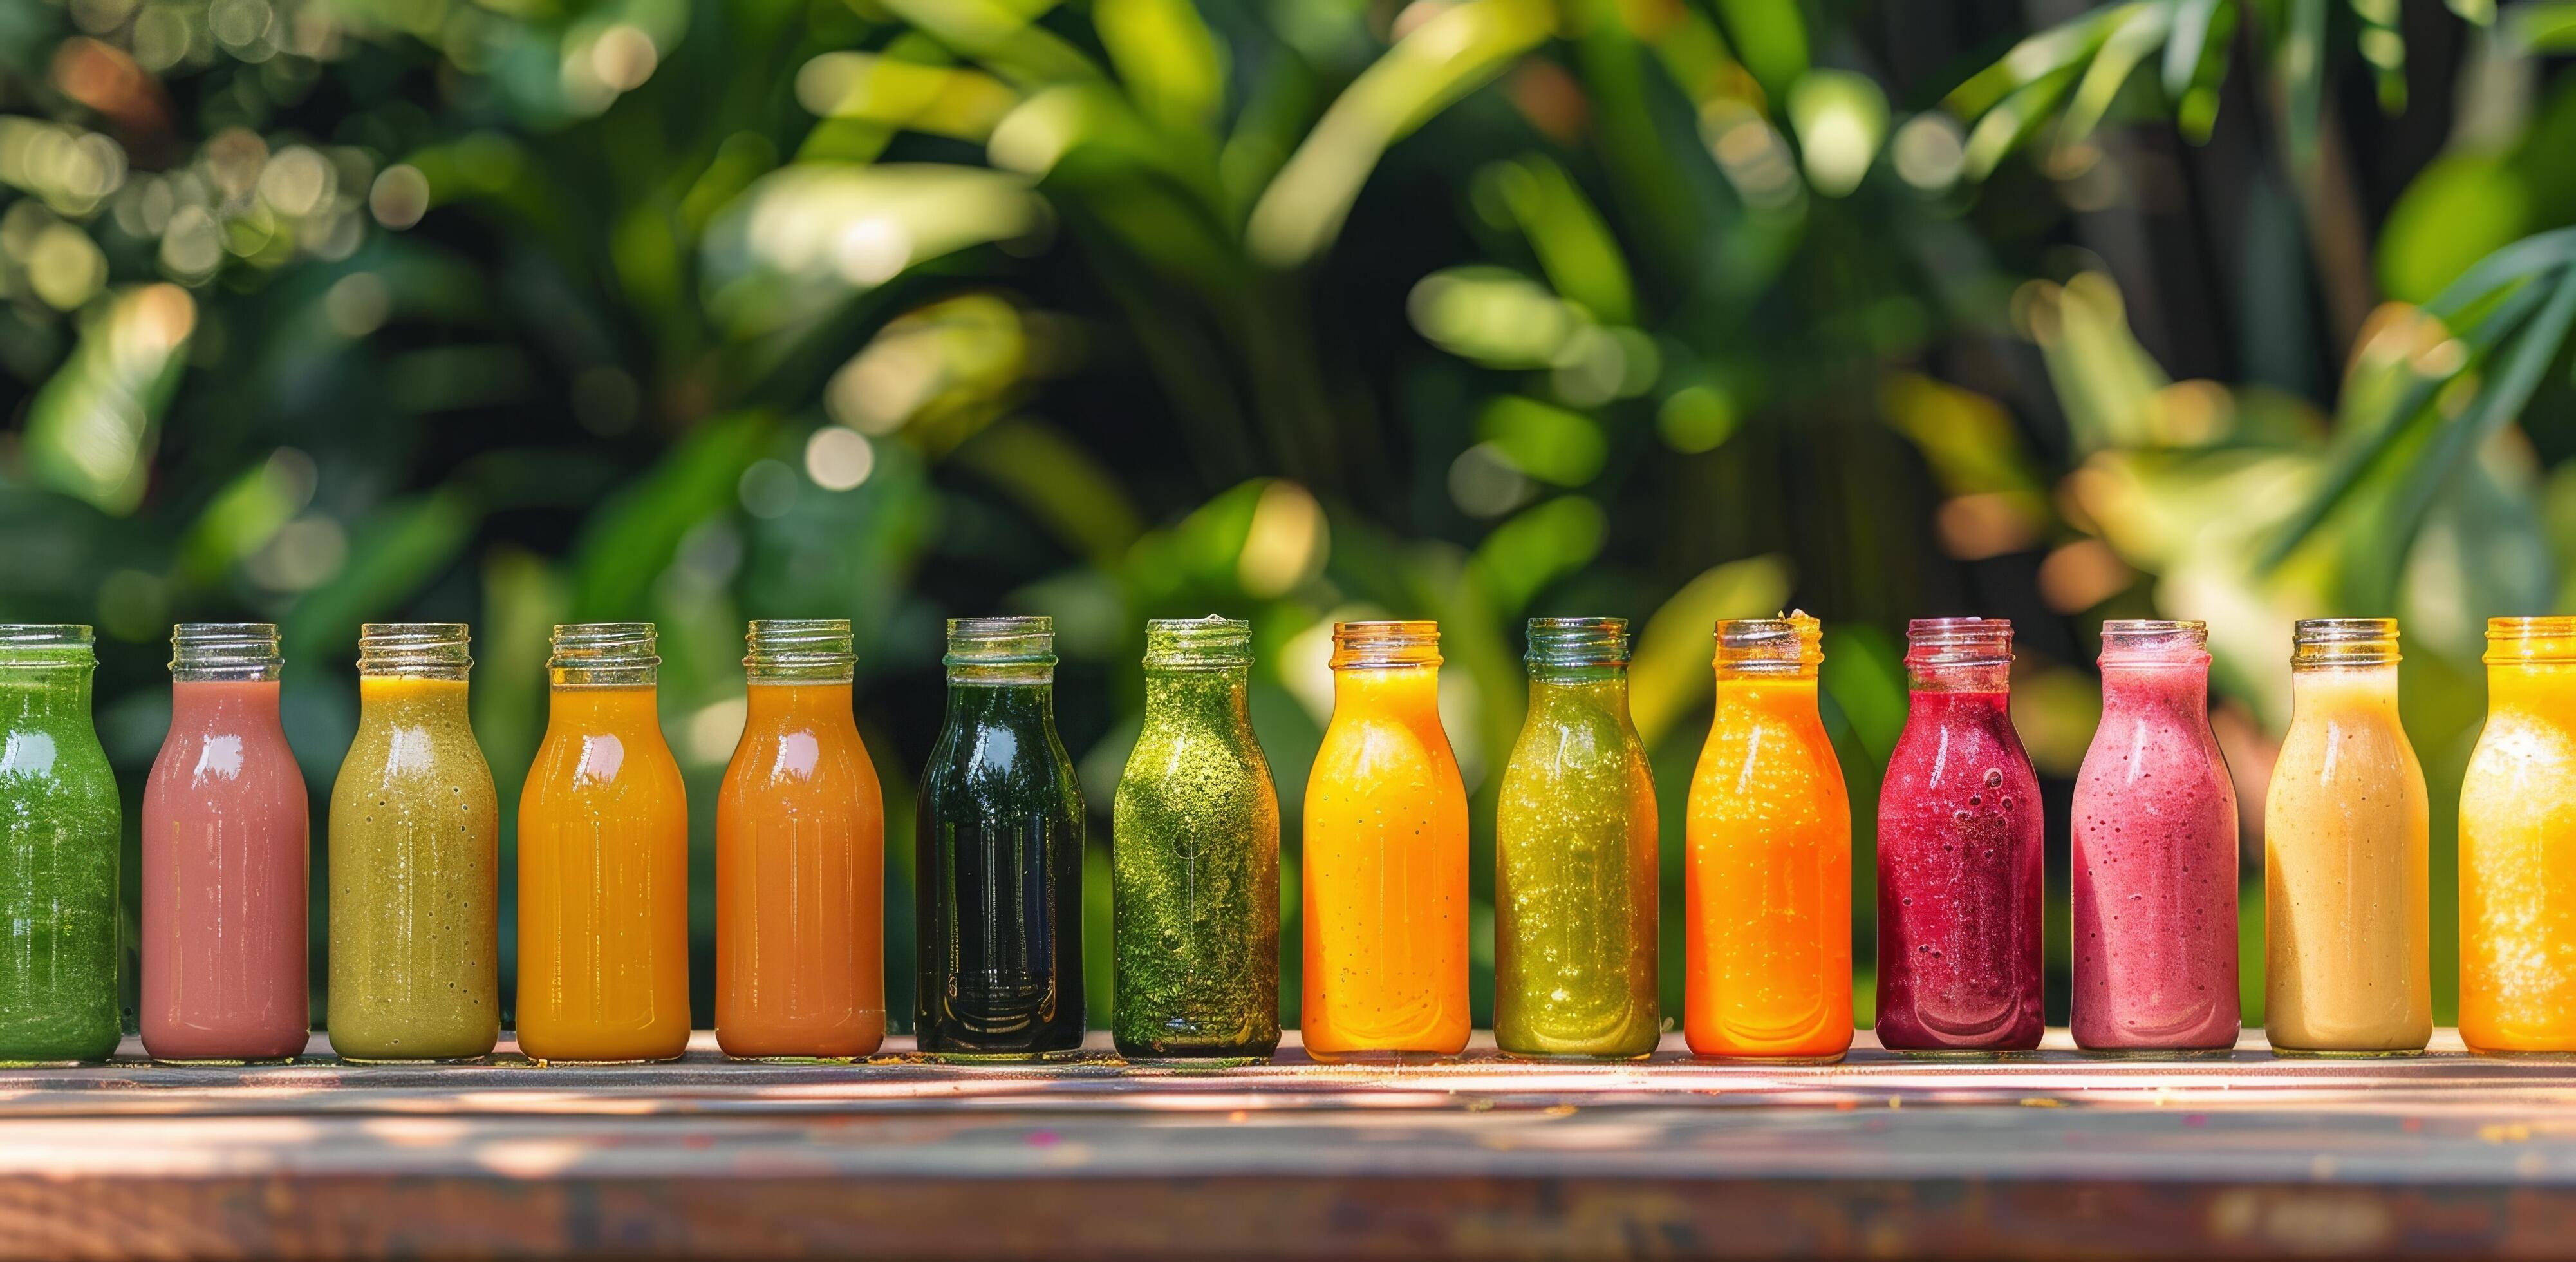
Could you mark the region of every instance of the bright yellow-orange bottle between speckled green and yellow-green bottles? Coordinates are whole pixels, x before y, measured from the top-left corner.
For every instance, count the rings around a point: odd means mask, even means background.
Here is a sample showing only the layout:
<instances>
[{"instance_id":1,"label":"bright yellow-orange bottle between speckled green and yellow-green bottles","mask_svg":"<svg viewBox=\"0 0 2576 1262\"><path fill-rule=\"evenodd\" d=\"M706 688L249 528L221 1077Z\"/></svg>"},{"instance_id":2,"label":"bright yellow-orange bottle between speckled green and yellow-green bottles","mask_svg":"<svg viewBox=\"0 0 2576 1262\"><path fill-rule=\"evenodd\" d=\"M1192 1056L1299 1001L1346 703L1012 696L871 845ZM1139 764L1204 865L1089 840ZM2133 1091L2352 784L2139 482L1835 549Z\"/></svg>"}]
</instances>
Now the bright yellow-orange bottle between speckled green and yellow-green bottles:
<instances>
[{"instance_id":1,"label":"bright yellow-orange bottle between speckled green and yellow-green bottles","mask_svg":"<svg viewBox=\"0 0 2576 1262\"><path fill-rule=\"evenodd\" d=\"M1440 626L1337 623L1306 780L1306 1053L1466 1051L1466 786L1440 731Z\"/></svg>"}]
</instances>

